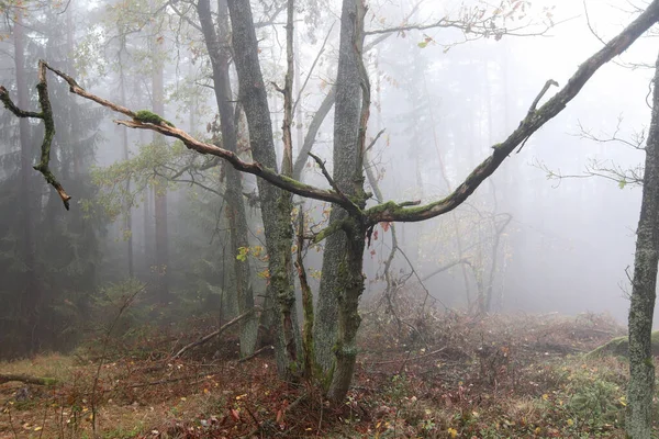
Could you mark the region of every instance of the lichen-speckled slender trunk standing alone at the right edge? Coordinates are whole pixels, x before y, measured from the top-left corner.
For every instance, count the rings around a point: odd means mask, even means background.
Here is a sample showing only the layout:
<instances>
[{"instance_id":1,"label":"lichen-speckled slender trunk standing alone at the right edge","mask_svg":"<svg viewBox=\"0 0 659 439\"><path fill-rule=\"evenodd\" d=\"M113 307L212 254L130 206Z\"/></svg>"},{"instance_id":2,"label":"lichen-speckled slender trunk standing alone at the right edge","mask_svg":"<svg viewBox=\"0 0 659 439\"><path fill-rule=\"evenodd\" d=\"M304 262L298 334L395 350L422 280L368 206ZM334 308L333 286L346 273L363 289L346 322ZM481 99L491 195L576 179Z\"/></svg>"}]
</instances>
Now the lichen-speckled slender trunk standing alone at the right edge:
<instances>
[{"instance_id":1,"label":"lichen-speckled slender trunk standing alone at the right edge","mask_svg":"<svg viewBox=\"0 0 659 439\"><path fill-rule=\"evenodd\" d=\"M657 296L659 262L659 58L655 70L652 119L646 145L643 201L636 232L634 281L629 306L629 387L627 434L633 439L650 437L652 429L652 315Z\"/></svg>"}]
</instances>

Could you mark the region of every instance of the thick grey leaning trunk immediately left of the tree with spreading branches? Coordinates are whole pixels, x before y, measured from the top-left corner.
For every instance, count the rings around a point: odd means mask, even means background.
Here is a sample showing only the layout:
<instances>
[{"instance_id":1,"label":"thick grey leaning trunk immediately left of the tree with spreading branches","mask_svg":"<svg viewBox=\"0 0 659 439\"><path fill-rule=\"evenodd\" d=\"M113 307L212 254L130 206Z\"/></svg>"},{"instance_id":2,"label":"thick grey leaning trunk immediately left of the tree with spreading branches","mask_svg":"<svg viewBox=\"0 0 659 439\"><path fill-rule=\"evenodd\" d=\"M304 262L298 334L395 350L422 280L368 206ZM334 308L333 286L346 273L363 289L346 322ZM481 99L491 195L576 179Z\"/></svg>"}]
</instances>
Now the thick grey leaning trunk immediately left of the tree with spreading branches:
<instances>
[{"instance_id":1,"label":"thick grey leaning trunk immediately left of the tree with spreading branches","mask_svg":"<svg viewBox=\"0 0 659 439\"><path fill-rule=\"evenodd\" d=\"M260 71L252 7L249 0L228 0L227 4L234 63L241 86L239 100L247 117L252 155L263 166L277 169L268 93ZM280 375L291 378L293 370L298 369L301 353L292 278L291 194L263 179L257 184L269 257L268 295L276 300L279 308L275 344L277 367Z\"/></svg>"}]
</instances>

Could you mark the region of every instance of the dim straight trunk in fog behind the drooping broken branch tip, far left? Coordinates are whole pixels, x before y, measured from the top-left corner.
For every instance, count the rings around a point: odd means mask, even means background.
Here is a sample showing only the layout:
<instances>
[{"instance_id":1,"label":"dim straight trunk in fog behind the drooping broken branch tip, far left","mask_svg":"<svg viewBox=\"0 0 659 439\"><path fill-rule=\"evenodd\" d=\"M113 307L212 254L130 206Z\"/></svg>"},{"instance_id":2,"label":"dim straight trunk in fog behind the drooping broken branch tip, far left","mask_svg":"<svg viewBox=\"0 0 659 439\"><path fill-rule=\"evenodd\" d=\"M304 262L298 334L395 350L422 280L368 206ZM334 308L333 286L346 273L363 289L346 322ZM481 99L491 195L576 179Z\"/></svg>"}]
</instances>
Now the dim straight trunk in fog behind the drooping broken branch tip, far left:
<instances>
[{"instance_id":1,"label":"dim straight trunk in fog behind the drooping broken branch tip, far left","mask_svg":"<svg viewBox=\"0 0 659 439\"><path fill-rule=\"evenodd\" d=\"M16 71L16 95L19 106L26 109L27 86L25 85L25 36L23 20L19 12L14 32L14 65ZM26 119L19 121L19 137L21 140L21 188L20 209L23 223L23 258L25 262L25 292L21 296L21 312L25 331L25 346L30 353L35 353L40 347L40 309L42 291L38 282L40 275L36 267L36 243L34 240L34 199L31 193L34 182L32 169L32 145L30 142L30 122Z\"/></svg>"}]
</instances>

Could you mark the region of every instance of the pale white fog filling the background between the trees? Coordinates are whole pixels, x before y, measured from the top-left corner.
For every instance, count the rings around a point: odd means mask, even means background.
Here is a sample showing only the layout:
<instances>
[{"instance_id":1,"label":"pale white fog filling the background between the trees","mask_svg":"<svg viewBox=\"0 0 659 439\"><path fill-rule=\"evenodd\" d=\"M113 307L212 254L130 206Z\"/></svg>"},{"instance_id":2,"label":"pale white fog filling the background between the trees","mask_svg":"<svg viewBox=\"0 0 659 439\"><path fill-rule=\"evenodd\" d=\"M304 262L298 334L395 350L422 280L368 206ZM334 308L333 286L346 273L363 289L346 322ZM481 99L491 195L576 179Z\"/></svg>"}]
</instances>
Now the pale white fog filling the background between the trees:
<instances>
[{"instance_id":1,"label":"pale white fog filling the background between the trees","mask_svg":"<svg viewBox=\"0 0 659 439\"><path fill-rule=\"evenodd\" d=\"M266 8L265 3L253 3L255 20L265 22L271 18L273 9ZM336 78L338 3L312 1L297 12L294 90L300 101L293 127L294 156ZM521 2L524 9L513 13L505 23L509 30L518 29L510 31L513 35L504 32L499 38L494 37L495 33L480 37L456 29L431 26L443 16L459 20L463 8L495 9L484 7L480 1L466 2L462 7L457 1L422 1L418 5L407 1L371 3L366 18L367 47L382 35L378 30L412 24L427 27L387 33L387 38L365 53L372 100L367 144L383 130L369 149L369 167L378 177L384 201L399 202L426 203L448 195L491 154L493 145L503 142L517 127L547 80L552 79L562 87L579 65L603 46L601 40L616 35L634 16L633 7L626 0ZM164 119L201 139L210 139L213 135L221 138L221 134L210 130L217 108L211 89L209 58L196 27L198 19L193 8L186 3L181 10L160 9L159 15L154 15L159 18L153 23L145 19L148 13L139 8L112 1L74 1L69 8L63 12L35 3L24 18L27 38L24 68L29 71L25 78L31 92L36 83L36 59L45 58L100 97L132 110L150 109L154 104L152 76L157 67L148 52L149 47L159 47L164 54L157 61L161 63L164 75ZM0 42L0 77L15 95L15 23L7 13ZM72 30L68 30L68 47L60 47L66 46L66 32L53 23L64 26L67 18ZM286 72L283 13L271 21L273 25L266 23L258 27L257 36L280 160L283 100L272 83L281 85ZM51 23L49 27L47 23ZM547 29L547 24L551 25ZM153 43L154 35L157 43ZM425 222L395 224L403 254L395 255L391 272L399 281L405 280L401 290L418 294L425 294L427 290L435 306L467 311L469 304L473 306L479 291L491 285L492 313L608 313L625 324L640 187L633 181L616 180L606 169L625 171L643 164L643 150L628 143L634 143L649 123L649 83L656 49L656 35L648 35L622 57L606 64L565 111L534 134L518 154L512 154L456 211ZM231 75L235 94L238 89L235 70ZM70 102L63 82L55 78L49 81L52 99ZM125 102L121 98L121 81L124 81ZM304 89L300 91L302 83ZM551 87L540 103L557 90ZM157 181L164 172L174 175L187 164L193 160L199 164L203 159L186 154L183 148L176 154L156 149L141 155L141 145L152 142L150 134L113 124L112 120L122 116L100 111L81 98L74 101L83 109L74 119L81 117L88 123L88 119L98 116L91 123L90 132L79 135L78 139L83 143L86 136L96 136L96 146L89 145L96 154L92 161L85 165L85 172L89 173L85 178L100 188L87 194L71 193L71 212L55 212L51 204L58 200L56 194L34 172L32 194L34 202L41 204L32 209L51 212L35 213L35 217L41 218L37 243L46 239L40 234L46 236L46 230L55 224L69 224L72 217L87 218L90 212L98 215L94 216L98 223L93 226L94 239L89 244L94 248L89 255L93 254L98 259L94 259L93 275L90 274L92 279L86 278L88 282L79 285L81 294L89 295L129 277L127 213L132 224L130 236L135 277L148 280L154 275L157 270L154 269L153 243L157 225L154 225L154 206L149 204L158 196L144 187ZM30 105L36 105L34 93L30 94ZM0 178L9 181L18 172L16 162L10 160L20 149L18 122L9 112L2 112L1 116L5 128L0 145L4 158ZM56 113L55 117L58 135L76 123L63 113ZM245 139L245 119L236 120ZM31 122L30 127L33 133L31 145L36 148L42 128L36 122ZM132 173L127 172L131 173L132 189L126 192L118 189L126 183L126 171L121 170L124 133L133 158L131 169L134 169ZM323 122L313 147L314 154L326 160L330 171L333 169L332 136L333 111ZM618 142L594 139L613 137ZM80 150L64 153L67 140L57 139L56 147L63 148L59 149L62 153L56 153L58 162L66 165L76 155L85 154ZM169 146L164 148L174 148L174 140L167 142ZM250 160L247 143L242 142L241 154ZM35 161L36 157L35 151L31 160ZM115 168L103 173L102 169L111 165ZM593 170L593 166L597 169ZM600 176L589 176L589 170ZM75 180L74 171L63 172L67 182ZM160 183L159 187L160 191L165 188L168 192L170 255L166 271L170 277L170 290L181 306L187 306L193 315L210 312L214 305L223 306L224 293L214 301L209 297L217 291L231 290L227 285L233 282L228 267L236 256L231 255L227 247L228 226L221 212L223 199L216 195L217 191L224 193L224 167L214 167L197 175L197 179L179 178L185 181ZM550 173L552 178L548 178ZM321 169L311 159L302 178L308 183L328 188ZM260 212L254 198L256 178L244 176L242 179L248 204L249 246L265 247ZM2 196L9 200L14 196L15 185L7 184ZM215 192L204 187L214 188ZM69 191L75 192L74 188ZM13 211L7 200L1 215L10 217ZM295 203L309 211L310 219L326 218L328 204L303 201L298 196ZM368 202L369 206L375 204L373 200ZM506 218L509 222L499 232L493 250L494 232ZM20 219L8 219L5 224L9 232L4 239L14 244L20 241L12 240ZM67 227L76 226L69 224ZM313 232L321 228L317 226ZM379 225L376 230L378 235L365 255L367 291L364 303L377 299L386 288L383 267L391 248L391 229ZM8 246L2 251L7 256L13 248ZM76 247L75 251L87 255L87 250L89 248ZM320 274L323 254L316 250L321 249L310 250L305 261L311 272ZM267 267L267 250L259 251L263 254L249 258L257 297L263 296L267 283L257 275ZM46 271L53 261L48 259L52 255L57 252L38 256L40 267ZM3 263L11 264L10 259L7 256ZM431 275L460 260L467 263L457 263ZM11 269L4 272L15 274ZM71 272L75 270L66 275ZM49 279L46 283L55 288L68 285L66 275L62 274L64 278L57 281L49 274L42 278ZM418 279L428 275L422 288ZM23 282L20 278L12 284L23 288ZM312 288L317 286L316 275ZM62 291L67 289L60 288ZM66 294L62 293L56 301L69 300ZM200 297L205 297L202 305L196 302ZM3 300L10 301L11 292L5 292Z\"/></svg>"}]
</instances>

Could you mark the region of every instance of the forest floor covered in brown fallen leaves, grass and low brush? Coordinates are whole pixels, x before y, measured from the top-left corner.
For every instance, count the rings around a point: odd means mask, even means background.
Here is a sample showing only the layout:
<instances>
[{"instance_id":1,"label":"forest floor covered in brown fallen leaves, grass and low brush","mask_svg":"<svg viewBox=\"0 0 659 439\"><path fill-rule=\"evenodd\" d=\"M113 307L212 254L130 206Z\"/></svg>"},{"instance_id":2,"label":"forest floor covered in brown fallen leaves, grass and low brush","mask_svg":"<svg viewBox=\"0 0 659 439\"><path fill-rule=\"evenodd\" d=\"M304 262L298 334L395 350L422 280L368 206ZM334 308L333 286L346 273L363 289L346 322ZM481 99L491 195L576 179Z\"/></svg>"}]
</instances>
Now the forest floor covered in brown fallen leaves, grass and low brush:
<instances>
[{"instance_id":1,"label":"forest floor covered in brown fallen leaves, grass and low brush","mask_svg":"<svg viewBox=\"0 0 659 439\"><path fill-rule=\"evenodd\" d=\"M271 352L238 362L231 333L174 361L157 358L171 336L152 333L113 340L100 369L93 349L0 363L57 380L0 384L0 438L624 438L627 364L583 356L622 334L592 314L366 312L333 408L279 381Z\"/></svg>"}]
</instances>

